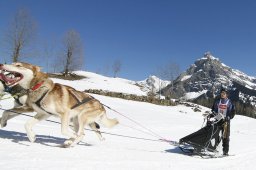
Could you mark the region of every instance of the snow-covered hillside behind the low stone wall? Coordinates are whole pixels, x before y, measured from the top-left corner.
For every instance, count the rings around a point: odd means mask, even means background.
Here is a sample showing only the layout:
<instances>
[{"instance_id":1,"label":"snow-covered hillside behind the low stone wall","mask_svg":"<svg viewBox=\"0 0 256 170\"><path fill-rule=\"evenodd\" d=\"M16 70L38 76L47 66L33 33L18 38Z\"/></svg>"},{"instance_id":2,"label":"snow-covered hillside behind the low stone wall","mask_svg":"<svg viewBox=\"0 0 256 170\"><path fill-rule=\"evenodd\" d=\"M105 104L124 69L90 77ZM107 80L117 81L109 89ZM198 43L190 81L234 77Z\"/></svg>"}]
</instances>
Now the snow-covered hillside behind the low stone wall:
<instances>
[{"instance_id":1,"label":"snow-covered hillside behind the low stone wall","mask_svg":"<svg viewBox=\"0 0 256 170\"><path fill-rule=\"evenodd\" d=\"M80 80L77 81L68 81L61 80L62 82L67 82L72 84L79 90L103 90L108 92L117 92L124 94L134 94L138 96L146 96L149 92L157 93L159 89L165 88L170 81L161 80L156 76L149 76L145 80L141 81L132 81L123 78L113 78L102 76L92 72L86 71L74 71L73 74L79 76ZM55 76L58 77L58 76ZM60 79L53 78L56 82ZM77 86L76 83L81 82L82 87Z\"/></svg>"}]
</instances>

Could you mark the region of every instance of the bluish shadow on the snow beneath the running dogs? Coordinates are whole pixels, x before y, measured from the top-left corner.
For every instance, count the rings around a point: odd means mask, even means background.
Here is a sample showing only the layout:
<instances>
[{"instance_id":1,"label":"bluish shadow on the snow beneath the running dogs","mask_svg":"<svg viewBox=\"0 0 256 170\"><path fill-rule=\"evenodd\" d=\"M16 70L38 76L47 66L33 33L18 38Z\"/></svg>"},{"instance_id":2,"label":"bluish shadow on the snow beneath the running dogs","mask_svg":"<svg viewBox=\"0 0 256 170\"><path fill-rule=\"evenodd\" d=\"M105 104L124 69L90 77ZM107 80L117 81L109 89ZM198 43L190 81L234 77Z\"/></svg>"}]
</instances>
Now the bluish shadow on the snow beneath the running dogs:
<instances>
[{"instance_id":1,"label":"bluish shadow on the snow beneath the running dogs","mask_svg":"<svg viewBox=\"0 0 256 170\"><path fill-rule=\"evenodd\" d=\"M21 145L26 145L24 142L30 142L26 133L7 131L7 130L1 130L1 129L0 129L0 138L10 139L12 142L18 143ZM65 140L66 140L65 138L46 136L46 135L36 135L35 143L39 143L46 146L53 146L52 144L61 145L64 143Z\"/></svg>"}]
</instances>

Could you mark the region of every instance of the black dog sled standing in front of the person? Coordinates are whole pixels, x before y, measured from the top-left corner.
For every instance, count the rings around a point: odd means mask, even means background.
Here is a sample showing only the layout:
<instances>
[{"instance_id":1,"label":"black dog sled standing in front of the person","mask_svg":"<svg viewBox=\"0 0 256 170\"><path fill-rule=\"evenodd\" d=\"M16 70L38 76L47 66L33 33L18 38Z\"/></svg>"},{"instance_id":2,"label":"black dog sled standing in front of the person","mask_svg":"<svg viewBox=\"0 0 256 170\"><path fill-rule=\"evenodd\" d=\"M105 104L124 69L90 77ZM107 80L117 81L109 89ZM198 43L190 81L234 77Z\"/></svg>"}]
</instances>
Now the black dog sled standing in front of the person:
<instances>
[{"instance_id":1,"label":"black dog sled standing in front of the person","mask_svg":"<svg viewBox=\"0 0 256 170\"><path fill-rule=\"evenodd\" d=\"M207 116L207 124L198 131L180 139L179 148L189 155L214 156L222 140L221 126L223 116L210 114Z\"/></svg>"}]
</instances>

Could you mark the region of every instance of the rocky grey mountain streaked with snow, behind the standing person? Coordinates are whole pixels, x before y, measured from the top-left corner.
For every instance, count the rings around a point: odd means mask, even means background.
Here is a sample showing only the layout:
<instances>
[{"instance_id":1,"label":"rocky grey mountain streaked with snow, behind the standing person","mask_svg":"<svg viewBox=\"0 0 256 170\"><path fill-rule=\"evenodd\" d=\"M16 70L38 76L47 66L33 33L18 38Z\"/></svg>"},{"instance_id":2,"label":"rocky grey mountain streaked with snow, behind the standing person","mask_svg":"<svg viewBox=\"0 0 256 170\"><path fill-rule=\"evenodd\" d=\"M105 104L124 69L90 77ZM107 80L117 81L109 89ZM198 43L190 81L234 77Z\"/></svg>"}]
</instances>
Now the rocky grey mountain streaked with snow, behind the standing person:
<instances>
[{"instance_id":1,"label":"rocky grey mountain streaked with snow, behind the standing person","mask_svg":"<svg viewBox=\"0 0 256 170\"><path fill-rule=\"evenodd\" d=\"M232 100L256 106L256 78L232 69L209 52L162 92L165 96L195 101L215 98L222 87L229 90Z\"/></svg>"}]
</instances>

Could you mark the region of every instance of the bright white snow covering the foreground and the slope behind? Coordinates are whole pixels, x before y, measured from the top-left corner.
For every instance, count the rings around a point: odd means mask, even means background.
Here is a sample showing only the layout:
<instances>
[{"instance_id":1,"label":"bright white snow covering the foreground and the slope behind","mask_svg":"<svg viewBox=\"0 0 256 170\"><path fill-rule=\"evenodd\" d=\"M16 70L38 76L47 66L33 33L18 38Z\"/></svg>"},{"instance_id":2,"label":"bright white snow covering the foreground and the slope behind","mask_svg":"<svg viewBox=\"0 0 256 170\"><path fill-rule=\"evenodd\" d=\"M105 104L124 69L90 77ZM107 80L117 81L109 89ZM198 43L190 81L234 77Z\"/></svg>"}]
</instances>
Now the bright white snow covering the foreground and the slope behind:
<instances>
[{"instance_id":1,"label":"bright white snow covering the foreground and the slope behind","mask_svg":"<svg viewBox=\"0 0 256 170\"><path fill-rule=\"evenodd\" d=\"M91 75L90 79L80 81L55 82L70 85L78 90L86 88L117 89L130 87L127 92L135 93L136 87L129 81ZM103 79L102 79L103 78ZM87 81L88 80L88 81ZM90 81L89 81L90 80ZM105 81L107 80L107 81ZM121 87L120 84L122 84ZM137 91L139 95L141 94ZM93 95L93 94L92 94ZM191 107L158 106L154 104L93 95L105 105L117 110L107 109L107 115L117 118L120 124L113 129L101 127L104 132L153 139L157 141L133 139L103 134L105 141L99 141L91 131L85 131L83 142L72 148L60 148L65 140L60 125L41 122L34 127L37 134L35 143L30 143L24 123L31 119L18 116L11 119L5 128L0 129L0 166L4 170L167 170L167 169L254 169L256 166L256 120L235 116L231 123L230 154L235 156L219 159L201 159L182 154L179 148L167 142L158 141L159 136L178 141L180 138L201 128L202 112L194 112ZM11 100L2 100L2 108L11 108ZM200 106L201 107L201 106ZM0 115L2 111L0 111ZM29 113L34 115L34 113ZM129 119L127 119L128 117ZM131 121L131 120L133 121ZM59 121L58 118L50 120ZM143 126L144 128L142 128ZM157 135L148 134L150 129Z\"/></svg>"}]
</instances>

